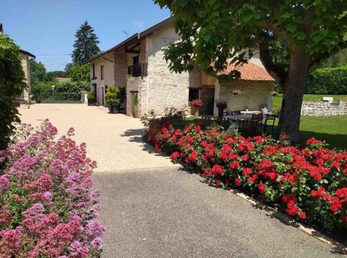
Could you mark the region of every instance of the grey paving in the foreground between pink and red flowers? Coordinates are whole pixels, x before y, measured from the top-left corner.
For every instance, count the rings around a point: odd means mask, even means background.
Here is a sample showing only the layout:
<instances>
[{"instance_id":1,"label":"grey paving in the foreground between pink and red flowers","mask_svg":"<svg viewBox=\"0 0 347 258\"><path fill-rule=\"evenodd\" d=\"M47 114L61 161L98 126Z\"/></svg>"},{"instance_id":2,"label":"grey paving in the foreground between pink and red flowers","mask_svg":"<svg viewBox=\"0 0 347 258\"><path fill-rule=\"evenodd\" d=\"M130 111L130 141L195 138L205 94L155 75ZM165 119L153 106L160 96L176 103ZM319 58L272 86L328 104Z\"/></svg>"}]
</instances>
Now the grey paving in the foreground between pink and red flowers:
<instances>
[{"instance_id":1,"label":"grey paving in the foreground between pink and red flowers","mask_svg":"<svg viewBox=\"0 0 347 258\"><path fill-rule=\"evenodd\" d=\"M178 168L95 173L103 257L337 257L331 246Z\"/></svg>"}]
</instances>

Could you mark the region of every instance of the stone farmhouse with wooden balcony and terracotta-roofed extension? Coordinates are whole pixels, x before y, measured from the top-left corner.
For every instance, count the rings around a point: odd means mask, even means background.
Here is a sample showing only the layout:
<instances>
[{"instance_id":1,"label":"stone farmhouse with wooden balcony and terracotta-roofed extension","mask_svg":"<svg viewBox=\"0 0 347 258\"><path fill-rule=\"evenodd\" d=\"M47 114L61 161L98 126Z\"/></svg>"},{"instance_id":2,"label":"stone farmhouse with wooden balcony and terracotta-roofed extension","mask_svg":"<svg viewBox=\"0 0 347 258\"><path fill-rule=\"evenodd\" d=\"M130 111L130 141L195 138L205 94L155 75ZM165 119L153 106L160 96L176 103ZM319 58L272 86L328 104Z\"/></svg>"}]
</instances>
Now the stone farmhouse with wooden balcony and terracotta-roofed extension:
<instances>
[{"instance_id":1,"label":"stone farmhouse with wooden balcony and terracotta-roofed extension","mask_svg":"<svg viewBox=\"0 0 347 258\"><path fill-rule=\"evenodd\" d=\"M128 37L108 51L95 55L90 63L91 86L97 105L105 105L109 85L126 87L126 114L141 117L154 110L163 114L167 107L187 108L192 99L203 100L200 114L217 116L217 101L228 101L227 110L260 110L272 108L274 79L265 71L259 56L242 67L230 65L241 72L237 80L221 81L206 75L199 67L176 74L169 71L164 50L180 40L169 17L151 28ZM237 89L240 94L232 93Z\"/></svg>"}]
</instances>

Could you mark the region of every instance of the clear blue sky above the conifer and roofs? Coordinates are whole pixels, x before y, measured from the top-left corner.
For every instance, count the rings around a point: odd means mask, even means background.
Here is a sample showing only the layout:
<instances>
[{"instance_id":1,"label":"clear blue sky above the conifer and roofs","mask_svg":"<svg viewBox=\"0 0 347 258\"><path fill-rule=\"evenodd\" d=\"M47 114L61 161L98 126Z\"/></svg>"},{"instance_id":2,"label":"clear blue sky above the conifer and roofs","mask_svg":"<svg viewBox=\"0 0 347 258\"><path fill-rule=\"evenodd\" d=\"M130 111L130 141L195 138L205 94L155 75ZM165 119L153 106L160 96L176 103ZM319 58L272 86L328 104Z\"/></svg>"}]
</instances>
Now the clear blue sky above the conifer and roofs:
<instances>
[{"instance_id":1,"label":"clear blue sky above the conifer and roofs","mask_svg":"<svg viewBox=\"0 0 347 258\"><path fill-rule=\"evenodd\" d=\"M124 31L133 35L169 16L152 0L0 0L4 33L47 71L71 62L74 35L85 20L105 51L126 39Z\"/></svg>"}]
</instances>

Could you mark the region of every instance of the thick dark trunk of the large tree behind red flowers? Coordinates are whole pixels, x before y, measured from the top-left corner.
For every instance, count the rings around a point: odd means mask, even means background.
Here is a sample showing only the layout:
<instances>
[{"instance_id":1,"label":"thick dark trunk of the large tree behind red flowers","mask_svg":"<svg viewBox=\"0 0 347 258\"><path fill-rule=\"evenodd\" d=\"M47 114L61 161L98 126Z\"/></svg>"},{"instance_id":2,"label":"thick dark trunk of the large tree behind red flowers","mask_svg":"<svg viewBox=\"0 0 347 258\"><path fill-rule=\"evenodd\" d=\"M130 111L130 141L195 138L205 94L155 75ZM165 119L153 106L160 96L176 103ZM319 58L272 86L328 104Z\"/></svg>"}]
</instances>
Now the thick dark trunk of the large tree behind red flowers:
<instances>
[{"instance_id":1,"label":"thick dark trunk of the large tree behind red flowers","mask_svg":"<svg viewBox=\"0 0 347 258\"><path fill-rule=\"evenodd\" d=\"M278 123L279 132L287 135L291 143L299 140L301 105L305 91L309 56L301 49L290 53L288 78L283 84L283 100Z\"/></svg>"}]
</instances>

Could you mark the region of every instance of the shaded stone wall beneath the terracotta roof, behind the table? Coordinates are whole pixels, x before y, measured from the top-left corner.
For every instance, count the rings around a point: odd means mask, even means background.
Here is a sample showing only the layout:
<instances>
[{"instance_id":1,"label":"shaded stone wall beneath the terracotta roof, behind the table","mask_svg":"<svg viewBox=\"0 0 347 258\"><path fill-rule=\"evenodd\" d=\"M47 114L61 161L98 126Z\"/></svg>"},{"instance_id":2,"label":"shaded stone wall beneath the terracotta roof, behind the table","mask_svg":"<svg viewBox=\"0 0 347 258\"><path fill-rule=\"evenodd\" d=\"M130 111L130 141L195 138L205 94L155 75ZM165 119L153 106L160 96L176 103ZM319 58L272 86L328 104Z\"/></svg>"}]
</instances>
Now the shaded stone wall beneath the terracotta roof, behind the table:
<instances>
[{"instance_id":1,"label":"shaded stone wall beneath the terracotta roof, behind the table","mask_svg":"<svg viewBox=\"0 0 347 258\"><path fill-rule=\"evenodd\" d=\"M219 94L214 101L228 101L226 110L260 110L260 105L267 104L272 110L272 96L274 83L266 81L230 80L220 82ZM240 94L232 94L232 90L239 89Z\"/></svg>"}]
</instances>

